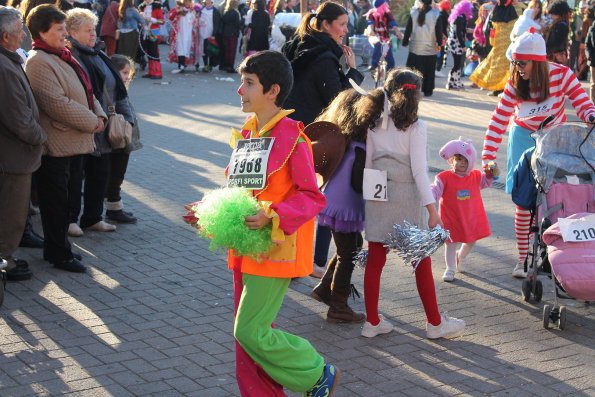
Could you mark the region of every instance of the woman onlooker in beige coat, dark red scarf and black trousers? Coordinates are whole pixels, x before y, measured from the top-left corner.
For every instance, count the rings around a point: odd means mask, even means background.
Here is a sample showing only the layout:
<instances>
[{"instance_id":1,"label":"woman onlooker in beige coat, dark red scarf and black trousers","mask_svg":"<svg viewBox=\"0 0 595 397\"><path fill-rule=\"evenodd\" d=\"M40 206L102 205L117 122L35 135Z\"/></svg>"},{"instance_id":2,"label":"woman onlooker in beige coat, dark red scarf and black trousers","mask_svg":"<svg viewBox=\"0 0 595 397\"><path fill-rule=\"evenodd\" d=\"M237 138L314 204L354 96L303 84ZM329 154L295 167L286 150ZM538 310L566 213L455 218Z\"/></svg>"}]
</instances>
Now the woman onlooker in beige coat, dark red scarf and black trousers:
<instances>
[{"instance_id":1,"label":"woman onlooker in beige coat, dark red scarf and black trousers","mask_svg":"<svg viewBox=\"0 0 595 397\"><path fill-rule=\"evenodd\" d=\"M36 172L44 234L43 257L56 268L86 271L68 241L68 182L72 163L95 150L93 135L107 116L93 96L81 65L66 48L66 15L54 5L35 7L27 17L33 38L25 71L48 140Z\"/></svg>"}]
</instances>

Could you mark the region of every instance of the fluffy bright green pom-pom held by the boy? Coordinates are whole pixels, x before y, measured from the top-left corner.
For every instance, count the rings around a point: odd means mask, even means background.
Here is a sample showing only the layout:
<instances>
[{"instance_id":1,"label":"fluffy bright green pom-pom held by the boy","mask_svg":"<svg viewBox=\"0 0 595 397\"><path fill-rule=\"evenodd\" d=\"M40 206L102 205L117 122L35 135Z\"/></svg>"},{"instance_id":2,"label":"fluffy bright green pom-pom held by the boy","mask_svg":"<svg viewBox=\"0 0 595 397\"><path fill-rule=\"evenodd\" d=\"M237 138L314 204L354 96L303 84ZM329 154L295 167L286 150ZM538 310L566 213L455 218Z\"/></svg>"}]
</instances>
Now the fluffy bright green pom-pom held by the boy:
<instances>
[{"instance_id":1,"label":"fluffy bright green pom-pom held by the boy","mask_svg":"<svg viewBox=\"0 0 595 397\"><path fill-rule=\"evenodd\" d=\"M271 226L249 229L245 217L256 215L260 205L250 192L232 187L213 190L195 207L199 234L210 239L209 249L232 249L238 255L258 258L273 245Z\"/></svg>"}]
</instances>

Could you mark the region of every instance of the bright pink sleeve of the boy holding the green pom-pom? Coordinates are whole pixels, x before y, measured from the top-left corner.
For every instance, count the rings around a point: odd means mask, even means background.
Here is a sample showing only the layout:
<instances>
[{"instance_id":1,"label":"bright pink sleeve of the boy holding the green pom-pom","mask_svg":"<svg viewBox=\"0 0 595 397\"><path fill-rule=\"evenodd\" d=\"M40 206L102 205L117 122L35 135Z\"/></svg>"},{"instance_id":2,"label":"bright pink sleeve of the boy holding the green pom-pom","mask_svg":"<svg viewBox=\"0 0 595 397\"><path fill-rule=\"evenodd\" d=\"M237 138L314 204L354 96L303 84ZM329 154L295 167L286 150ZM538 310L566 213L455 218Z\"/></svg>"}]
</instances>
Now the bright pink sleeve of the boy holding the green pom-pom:
<instances>
[{"instance_id":1,"label":"bright pink sleeve of the boy holding the green pom-pom","mask_svg":"<svg viewBox=\"0 0 595 397\"><path fill-rule=\"evenodd\" d=\"M314 160L305 142L297 144L287 167L296 191L284 201L271 205L271 208L279 215L281 230L285 234L293 234L326 206L326 199L318 189Z\"/></svg>"}]
</instances>

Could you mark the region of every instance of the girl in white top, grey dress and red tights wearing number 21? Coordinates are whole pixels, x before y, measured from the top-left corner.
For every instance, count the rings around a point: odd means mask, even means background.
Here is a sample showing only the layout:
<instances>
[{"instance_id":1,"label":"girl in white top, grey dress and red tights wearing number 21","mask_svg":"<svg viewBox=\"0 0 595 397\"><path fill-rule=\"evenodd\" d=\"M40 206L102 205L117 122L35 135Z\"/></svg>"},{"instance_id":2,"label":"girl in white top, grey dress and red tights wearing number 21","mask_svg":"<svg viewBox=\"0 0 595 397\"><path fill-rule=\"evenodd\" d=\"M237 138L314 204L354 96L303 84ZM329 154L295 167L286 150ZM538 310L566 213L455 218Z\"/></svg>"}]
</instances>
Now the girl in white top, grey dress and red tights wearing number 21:
<instances>
[{"instance_id":1,"label":"girl in white top, grey dress and red tights wearing number 21","mask_svg":"<svg viewBox=\"0 0 595 397\"><path fill-rule=\"evenodd\" d=\"M373 126L366 139L366 169L386 171L385 176L381 174L375 180L366 181L368 176L364 176L365 184L384 187L378 198L364 194L368 261L364 273L367 321L362 336L368 338L393 330L393 325L378 314L380 277L387 254L384 241L393 232L393 225L404 221L418 227L442 225L427 174L426 124L417 118L421 84L419 73L394 69L388 73L383 89L370 92L358 106L357 117L369 118L366 125ZM373 172L368 175L370 173ZM386 201L377 201L383 199ZM429 220L424 216L426 212ZM447 338L460 334L465 322L438 311L429 256L419 263L415 281L426 312L427 337Z\"/></svg>"}]
</instances>

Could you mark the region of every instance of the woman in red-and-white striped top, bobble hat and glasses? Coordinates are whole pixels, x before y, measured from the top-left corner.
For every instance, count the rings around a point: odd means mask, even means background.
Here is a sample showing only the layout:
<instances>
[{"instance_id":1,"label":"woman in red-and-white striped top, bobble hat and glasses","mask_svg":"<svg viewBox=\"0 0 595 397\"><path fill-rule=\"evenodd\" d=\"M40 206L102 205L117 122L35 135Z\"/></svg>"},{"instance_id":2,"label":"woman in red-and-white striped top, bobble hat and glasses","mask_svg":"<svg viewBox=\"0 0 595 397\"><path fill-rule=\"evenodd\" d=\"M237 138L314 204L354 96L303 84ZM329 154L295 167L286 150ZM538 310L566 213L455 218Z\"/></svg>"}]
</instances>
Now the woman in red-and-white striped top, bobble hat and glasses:
<instances>
[{"instance_id":1,"label":"woman in red-and-white striped top, bobble hat and glasses","mask_svg":"<svg viewBox=\"0 0 595 397\"><path fill-rule=\"evenodd\" d=\"M551 124L566 121L566 97L585 122L595 121L595 105L570 69L546 60L545 41L533 28L511 44L506 56L511 60L510 79L492 114L481 157L484 164L496 159L510 117L514 115L506 164L506 192L510 194L515 165L523 152L535 145L530 134L550 116L553 116ZM519 256L513 277L526 277L523 264L529 248L530 219L529 211L516 208L514 223Z\"/></svg>"}]
</instances>

